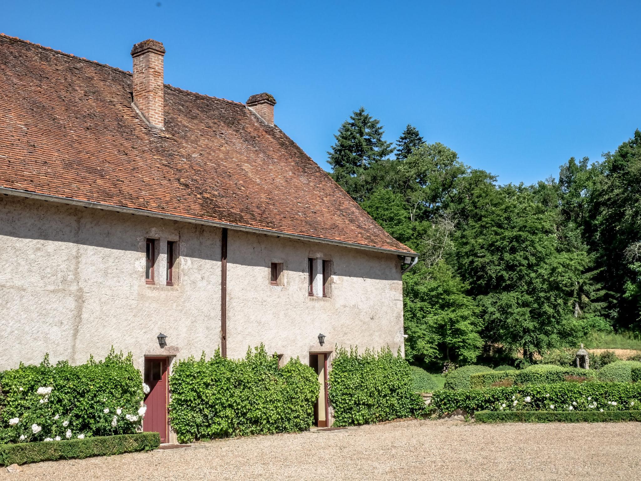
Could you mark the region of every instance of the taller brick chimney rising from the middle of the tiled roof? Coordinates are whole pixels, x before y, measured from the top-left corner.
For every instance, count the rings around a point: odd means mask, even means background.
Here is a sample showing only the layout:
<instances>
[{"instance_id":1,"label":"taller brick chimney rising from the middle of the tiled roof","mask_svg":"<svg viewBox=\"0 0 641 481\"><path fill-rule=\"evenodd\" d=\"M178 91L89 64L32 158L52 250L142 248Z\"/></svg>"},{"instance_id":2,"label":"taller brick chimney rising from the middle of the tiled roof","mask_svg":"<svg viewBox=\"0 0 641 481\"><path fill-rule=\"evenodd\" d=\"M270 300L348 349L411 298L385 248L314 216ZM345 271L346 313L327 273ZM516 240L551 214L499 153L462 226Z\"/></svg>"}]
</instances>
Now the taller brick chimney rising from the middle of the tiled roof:
<instances>
[{"instance_id":1,"label":"taller brick chimney rising from the middle of the tiled roof","mask_svg":"<svg viewBox=\"0 0 641 481\"><path fill-rule=\"evenodd\" d=\"M165 47L157 40L145 40L131 49L133 57L133 101L147 122L164 128L163 56Z\"/></svg>"}]
</instances>

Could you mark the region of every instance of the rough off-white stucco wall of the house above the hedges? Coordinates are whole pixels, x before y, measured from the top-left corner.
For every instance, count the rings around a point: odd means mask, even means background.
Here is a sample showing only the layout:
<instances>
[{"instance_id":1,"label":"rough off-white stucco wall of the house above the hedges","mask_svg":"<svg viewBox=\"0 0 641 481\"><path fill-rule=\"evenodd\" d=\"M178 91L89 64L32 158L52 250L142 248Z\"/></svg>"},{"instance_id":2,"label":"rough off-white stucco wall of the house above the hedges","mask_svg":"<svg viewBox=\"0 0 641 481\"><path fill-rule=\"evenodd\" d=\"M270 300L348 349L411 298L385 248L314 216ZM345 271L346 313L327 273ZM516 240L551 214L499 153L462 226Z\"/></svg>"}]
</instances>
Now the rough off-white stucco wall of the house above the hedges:
<instances>
[{"instance_id":1,"label":"rough off-white stucco wall of the house above the hedges","mask_svg":"<svg viewBox=\"0 0 641 481\"><path fill-rule=\"evenodd\" d=\"M158 239L156 285L144 281L145 240ZM167 241L178 283L165 285ZM220 344L221 230L191 223L0 196L0 370L19 362L103 358L113 345L145 355L209 357ZM308 257L333 262L331 297L307 294ZM269 283L283 262L285 285ZM175 274L174 274L175 275ZM263 342L308 362L335 344L403 346L395 255L229 230L228 356ZM167 335L160 349L156 335ZM326 335L319 345L319 333Z\"/></svg>"}]
</instances>

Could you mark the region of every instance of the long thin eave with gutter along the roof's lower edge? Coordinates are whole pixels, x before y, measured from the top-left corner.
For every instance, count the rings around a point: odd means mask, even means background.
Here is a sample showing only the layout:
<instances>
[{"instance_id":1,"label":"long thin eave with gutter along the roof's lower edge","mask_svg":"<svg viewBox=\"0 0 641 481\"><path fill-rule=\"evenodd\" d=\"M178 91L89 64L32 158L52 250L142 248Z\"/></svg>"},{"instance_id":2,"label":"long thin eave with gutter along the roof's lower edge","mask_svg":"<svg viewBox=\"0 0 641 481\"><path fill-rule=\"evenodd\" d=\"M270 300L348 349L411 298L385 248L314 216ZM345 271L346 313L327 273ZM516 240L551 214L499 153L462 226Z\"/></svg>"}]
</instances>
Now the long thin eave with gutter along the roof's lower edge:
<instances>
[{"instance_id":1,"label":"long thin eave with gutter along the roof's lower edge","mask_svg":"<svg viewBox=\"0 0 641 481\"><path fill-rule=\"evenodd\" d=\"M8 196L19 196L29 199L38 199L50 202L58 202L67 205L78 205L81 207L98 208L101 210L113 210L114 212L121 212L123 214L131 215L146 215L147 217L158 217L159 219L167 219L170 221L181 221L192 224L203 224L215 227L224 227L233 230L242 230L245 232L254 232L265 235L272 235L276 237L286 237L288 239L298 239L300 241L320 242L322 244L332 244L334 246L342 246L353 249L363 249L367 251L381 252L385 254L403 255L408 257L417 257L418 254L413 251L399 251L395 249L387 249L376 246L367 246L365 244L356 244L353 242L335 241L333 239L325 239L324 237L313 237L310 235L292 234L288 232L280 232L277 230L263 229L257 227L242 226L239 224L229 224L218 221L208 221L207 219L199 219L197 217L186 217L184 215L163 214L162 212L154 212L153 210L144 210L131 207L121 207L118 205L103 204L99 202L83 201L79 199L72 199L68 197L51 196L49 194L38 194L37 192L29 192L28 190L9 189L8 187L0 187L0 194Z\"/></svg>"}]
</instances>

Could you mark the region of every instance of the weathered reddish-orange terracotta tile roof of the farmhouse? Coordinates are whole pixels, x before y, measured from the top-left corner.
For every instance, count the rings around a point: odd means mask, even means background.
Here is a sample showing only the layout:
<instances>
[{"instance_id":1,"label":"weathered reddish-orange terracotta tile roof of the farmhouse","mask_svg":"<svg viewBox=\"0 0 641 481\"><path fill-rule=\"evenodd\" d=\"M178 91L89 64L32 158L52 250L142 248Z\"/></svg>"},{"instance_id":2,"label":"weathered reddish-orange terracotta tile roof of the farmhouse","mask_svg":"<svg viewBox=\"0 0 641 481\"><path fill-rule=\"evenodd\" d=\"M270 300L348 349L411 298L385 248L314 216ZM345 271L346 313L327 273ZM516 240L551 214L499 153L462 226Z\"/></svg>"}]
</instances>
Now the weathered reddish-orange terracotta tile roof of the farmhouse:
<instances>
[{"instance_id":1,"label":"weathered reddish-orange terracotta tile roof of the farmhouse","mask_svg":"<svg viewBox=\"0 0 641 481\"><path fill-rule=\"evenodd\" d=\"M131 73L0 35L0 187L412 252L242 103L165 85L165 131Z\"/></svg>"}]
</instances>

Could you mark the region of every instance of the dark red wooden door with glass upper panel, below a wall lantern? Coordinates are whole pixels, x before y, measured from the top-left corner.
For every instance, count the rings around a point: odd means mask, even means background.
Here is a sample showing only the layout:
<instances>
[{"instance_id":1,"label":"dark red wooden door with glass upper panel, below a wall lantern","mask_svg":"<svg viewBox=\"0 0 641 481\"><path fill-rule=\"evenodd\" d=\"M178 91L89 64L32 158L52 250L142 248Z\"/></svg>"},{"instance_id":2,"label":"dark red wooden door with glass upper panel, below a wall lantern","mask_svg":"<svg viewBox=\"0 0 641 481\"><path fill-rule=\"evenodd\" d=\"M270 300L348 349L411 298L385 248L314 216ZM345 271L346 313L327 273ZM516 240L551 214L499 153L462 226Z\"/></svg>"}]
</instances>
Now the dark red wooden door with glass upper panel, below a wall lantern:
<instances>
[{"instance_id":1,"label":"dark red wooden door with glass upper panel, below a wall lantern","mask_svg":"<svg viewBox=\"0 0 641 481\"><path fill-rule=\"evenodd\" d=\"M142 430L159 432L160 442L167 443L167 358L145 359L145 383L149 386L149 394L145 398L147 412L142 420Z\"/></svg>"}]
</instances>

